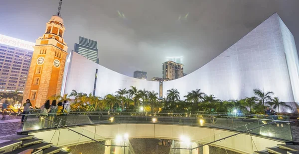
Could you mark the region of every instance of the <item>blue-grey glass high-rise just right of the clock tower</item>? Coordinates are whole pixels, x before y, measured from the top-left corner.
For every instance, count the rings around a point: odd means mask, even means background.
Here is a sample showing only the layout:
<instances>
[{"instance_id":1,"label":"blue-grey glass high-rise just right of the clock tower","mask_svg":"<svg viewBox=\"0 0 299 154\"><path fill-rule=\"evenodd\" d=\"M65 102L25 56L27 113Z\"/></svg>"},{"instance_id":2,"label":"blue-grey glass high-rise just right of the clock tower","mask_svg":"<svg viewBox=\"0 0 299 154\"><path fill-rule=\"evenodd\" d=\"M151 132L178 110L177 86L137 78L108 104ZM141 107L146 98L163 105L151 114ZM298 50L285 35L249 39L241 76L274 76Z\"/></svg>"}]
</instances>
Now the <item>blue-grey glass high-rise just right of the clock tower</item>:
<instances>
[{"instance_id":1,"label":"blue-grey glass high-rise just right of the clock tower","mask_svg":"<svg viewBox=\"0 0 299 154\"><path fill-rule=\"evenodd\" d=\"M87 59L99 64L97 41L79 37L79 44L75 43L74 51Z\"/></svg>"}]
</instances>

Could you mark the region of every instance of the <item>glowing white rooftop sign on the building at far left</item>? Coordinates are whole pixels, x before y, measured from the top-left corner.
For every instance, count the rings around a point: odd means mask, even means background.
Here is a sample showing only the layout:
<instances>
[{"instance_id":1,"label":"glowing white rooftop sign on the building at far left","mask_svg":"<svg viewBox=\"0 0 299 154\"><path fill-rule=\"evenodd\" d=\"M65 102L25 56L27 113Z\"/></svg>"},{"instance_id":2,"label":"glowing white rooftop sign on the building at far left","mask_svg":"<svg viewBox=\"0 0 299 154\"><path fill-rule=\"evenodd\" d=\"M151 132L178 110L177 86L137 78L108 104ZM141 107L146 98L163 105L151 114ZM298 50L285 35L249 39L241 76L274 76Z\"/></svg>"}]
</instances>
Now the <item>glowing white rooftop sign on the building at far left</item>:
<instances>
[{"instance_id":1,"label":"glowing white rooftop sign on the building at far left","mask_svg":"<svg viewBox=\"0 0 299 154\"><path fill-rule=\"evenodd\" d=\"M34 50L33 46L35 45L35 43L32 43L32 42L16 39L16 38L1 35L1 34L0 34L0 44L5 44L8 46L13 46L13 47L22 48L22 49L31 50L31 51Z\"/></svg>"}]
</instances>

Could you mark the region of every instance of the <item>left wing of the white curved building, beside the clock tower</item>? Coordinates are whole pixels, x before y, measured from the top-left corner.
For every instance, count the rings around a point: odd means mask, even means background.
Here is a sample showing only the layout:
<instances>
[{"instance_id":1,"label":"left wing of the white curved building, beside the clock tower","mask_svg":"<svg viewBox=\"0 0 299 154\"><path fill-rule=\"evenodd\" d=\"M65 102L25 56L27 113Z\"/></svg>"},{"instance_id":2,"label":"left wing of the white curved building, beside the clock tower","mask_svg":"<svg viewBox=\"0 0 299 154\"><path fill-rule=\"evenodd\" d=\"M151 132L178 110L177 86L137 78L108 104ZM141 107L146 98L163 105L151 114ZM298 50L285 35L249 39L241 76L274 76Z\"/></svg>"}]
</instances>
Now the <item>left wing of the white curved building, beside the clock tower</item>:
<instances>
[{"instance_id":1,"label":"left wing of the white curved building, beside the clock tower","mask_svg":"<svg viewBox=\"0 0 299 154\"><path fill-rule=\"evenodd\" d=\"M96 64L73 51L71 52L70 61L68 63L68 71L65 71L67 72L67 75L64 93L70 94L73 89L78 92L93 93L96 69L98 69L96 96L103 97L107 94L113 94L120 88L130 89L131 86L136 86L138 89L159 92L159 82L147 81L119 74Z\"/></svg>"}]
</instances>

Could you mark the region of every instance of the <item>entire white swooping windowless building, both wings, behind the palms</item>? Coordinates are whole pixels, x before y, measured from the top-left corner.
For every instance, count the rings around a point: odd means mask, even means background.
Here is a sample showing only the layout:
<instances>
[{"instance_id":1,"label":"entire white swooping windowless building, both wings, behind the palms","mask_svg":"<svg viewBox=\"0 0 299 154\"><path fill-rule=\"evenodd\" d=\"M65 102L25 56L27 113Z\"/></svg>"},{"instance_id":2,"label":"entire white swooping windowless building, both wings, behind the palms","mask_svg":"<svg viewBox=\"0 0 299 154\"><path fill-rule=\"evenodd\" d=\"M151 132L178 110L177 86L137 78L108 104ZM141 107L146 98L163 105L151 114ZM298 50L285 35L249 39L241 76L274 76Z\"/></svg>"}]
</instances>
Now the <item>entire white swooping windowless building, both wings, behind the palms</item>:
<instances>
[{"instance_id":1,"label":"entire white swooping windowless building, both wings, behind the palms","mask_svg":"<svg viewBox=\"0 0 299 154\"><path fill-rule=\"evenodd\" d=\"M75 52L71 52L67 63L64 93L75 89L104 96L130 86L159 92L159 82L121 75ZM298 69L294 37L275 13L200 69L164 81L163 96L168 89L176 88L183 98L188 91L200 88L218 99L242 99L253 96L253 89L259 88L273 91L281 101L299 102Z\"/></svg>"}]
</instances>

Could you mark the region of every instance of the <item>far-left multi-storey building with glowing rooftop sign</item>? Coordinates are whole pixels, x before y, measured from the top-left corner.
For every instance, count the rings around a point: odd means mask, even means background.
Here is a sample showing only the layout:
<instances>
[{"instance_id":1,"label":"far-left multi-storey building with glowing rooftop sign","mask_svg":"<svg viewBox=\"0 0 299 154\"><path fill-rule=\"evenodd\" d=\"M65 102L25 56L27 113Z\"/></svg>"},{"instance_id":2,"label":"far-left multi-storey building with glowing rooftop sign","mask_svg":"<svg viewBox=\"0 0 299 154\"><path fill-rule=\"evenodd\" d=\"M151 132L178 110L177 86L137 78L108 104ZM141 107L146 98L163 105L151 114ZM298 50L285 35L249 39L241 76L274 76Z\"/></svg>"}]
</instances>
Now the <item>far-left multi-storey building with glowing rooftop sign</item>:
<instances>
[{"instance_id":1,"label":"far-left multi-storey building with glowing rooftop sign","mask_svg":"<svg viewBox=\"0 0 299 154\"><path fill-rule=\"evenodd\" d=\"M0 35L0 92L23 92L34 43Z\"/></svg>"}]
</instances>

